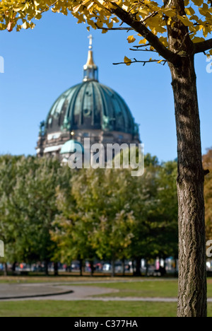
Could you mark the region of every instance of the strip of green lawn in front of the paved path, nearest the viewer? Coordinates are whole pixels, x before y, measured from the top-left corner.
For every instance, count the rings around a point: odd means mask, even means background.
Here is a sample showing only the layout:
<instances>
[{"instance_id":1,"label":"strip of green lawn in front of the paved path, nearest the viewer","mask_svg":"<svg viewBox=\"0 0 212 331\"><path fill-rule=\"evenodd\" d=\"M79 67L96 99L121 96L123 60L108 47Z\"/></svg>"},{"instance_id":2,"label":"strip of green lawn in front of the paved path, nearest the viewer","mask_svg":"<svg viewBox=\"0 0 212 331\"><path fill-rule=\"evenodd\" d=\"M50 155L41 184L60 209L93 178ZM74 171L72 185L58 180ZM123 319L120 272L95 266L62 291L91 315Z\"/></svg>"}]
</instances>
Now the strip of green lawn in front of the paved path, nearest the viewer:
<instances>
[{"instance_id":1,"label":"strip of green lawn in front of the paved path, nearest the viewer","mask_svg":"<svg viewBox=\"0 0 212 331\"><path fill-rule=\"evenodd\" d=\"M0 317L176 317L176 303L99 301L1 302ZM212 304L208 305L212 317Z\"/></svg>"}]
</instances>

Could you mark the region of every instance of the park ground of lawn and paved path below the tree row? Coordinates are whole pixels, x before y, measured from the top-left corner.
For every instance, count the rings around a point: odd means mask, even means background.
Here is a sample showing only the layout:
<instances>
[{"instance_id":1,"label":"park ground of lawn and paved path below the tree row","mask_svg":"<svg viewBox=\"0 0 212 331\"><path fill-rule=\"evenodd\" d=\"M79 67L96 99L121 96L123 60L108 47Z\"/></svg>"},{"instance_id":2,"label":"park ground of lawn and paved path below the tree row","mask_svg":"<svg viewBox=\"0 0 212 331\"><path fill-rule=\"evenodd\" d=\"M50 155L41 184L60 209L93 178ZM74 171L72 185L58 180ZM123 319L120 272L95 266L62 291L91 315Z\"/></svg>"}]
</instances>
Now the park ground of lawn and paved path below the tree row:
<instances>
[{"instance_id":1,"label":"park ground of lawn and paved path below the tree row","mask_svg":"<svg viewBox=\"0 0 212 331\"><path fill-rule=\"evenodd\" d=\"M4 286L11 291L28 286L45 291L49 286L73 294L0 300L0 317L175 317L177 311L177 279L1 277L0 297ZM208 298L212 317L212 279L208 279Z\"/></svg>"}]
</instances>

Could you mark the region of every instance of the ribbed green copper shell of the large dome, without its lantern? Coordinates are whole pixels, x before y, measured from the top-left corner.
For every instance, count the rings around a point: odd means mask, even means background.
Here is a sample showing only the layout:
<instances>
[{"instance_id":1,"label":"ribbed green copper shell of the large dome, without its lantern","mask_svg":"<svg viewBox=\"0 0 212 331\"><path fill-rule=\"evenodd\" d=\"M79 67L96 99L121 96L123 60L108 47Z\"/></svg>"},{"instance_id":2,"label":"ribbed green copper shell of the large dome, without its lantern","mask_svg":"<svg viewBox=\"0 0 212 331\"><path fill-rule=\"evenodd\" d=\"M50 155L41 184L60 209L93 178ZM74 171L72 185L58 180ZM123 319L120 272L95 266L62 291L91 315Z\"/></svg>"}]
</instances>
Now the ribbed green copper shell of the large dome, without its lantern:
<instances>
[{"instance_id":1,"label":"ribbed green copper shell of the large dome, without its lantern","mask_svg":"<svg viewBox=\"0 0 212 331\"><path fill-rule=\"evenodd\" d=\"M83 81L59 96L45 122L45 132L102 129L135 133L136 124L122 97L98 81Z\"/></svg>"}]
</instances>

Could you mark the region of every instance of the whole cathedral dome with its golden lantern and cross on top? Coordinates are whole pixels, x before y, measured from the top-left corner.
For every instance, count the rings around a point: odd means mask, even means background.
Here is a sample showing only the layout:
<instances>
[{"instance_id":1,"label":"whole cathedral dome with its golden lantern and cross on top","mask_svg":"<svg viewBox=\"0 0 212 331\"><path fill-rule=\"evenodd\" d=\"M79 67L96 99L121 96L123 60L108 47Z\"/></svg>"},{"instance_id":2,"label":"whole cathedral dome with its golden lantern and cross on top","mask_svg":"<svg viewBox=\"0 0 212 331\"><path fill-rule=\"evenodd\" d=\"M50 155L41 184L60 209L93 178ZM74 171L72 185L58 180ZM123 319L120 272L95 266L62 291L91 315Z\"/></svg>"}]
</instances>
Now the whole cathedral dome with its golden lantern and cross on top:
<instances>
[{"instance_id":1,"label":"whole cathedral dome with its golden lantern and cross on top","mask_svg":"<svg viewBox=\"0 0 212 331\"><path fill-rule=\"evenodd\" d=\"M47 119L40 123L37 156L64 157L72 142L92 144L139 144L139 127L124 99L98 81L98 66L93 60L92 36L88 60L83 66L83 82L62 93ZM70 140L71 139L71 140Z\"/></svg>"}]
</instances>

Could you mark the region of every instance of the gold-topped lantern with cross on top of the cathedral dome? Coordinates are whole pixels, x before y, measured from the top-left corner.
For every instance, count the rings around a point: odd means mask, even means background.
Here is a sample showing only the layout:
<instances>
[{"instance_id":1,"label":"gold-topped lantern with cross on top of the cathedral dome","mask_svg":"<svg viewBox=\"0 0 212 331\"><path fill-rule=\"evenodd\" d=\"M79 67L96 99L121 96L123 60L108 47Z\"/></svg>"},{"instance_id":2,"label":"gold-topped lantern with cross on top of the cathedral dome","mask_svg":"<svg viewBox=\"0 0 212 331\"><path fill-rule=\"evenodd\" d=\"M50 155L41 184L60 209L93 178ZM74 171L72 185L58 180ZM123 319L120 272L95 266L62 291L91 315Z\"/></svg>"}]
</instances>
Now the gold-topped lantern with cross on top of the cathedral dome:
<instances>
[{"instance_id":1,"label":"gold-topped lantern with cross on top of the cathedral dome","mask_svg":"<svg viewBox=\"0 0 212 331\"><path fill-rule=\"evenodd\" d=\"M98 81L98 66L93 60L93 36L89 35L88 60L83 66L83 81Z\"/></svg>"}]
</instances>

